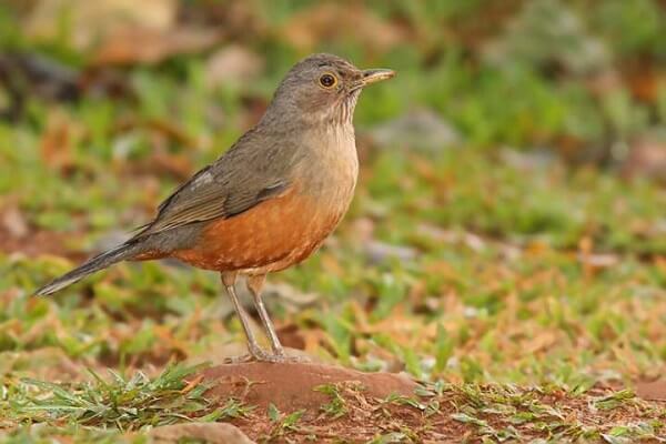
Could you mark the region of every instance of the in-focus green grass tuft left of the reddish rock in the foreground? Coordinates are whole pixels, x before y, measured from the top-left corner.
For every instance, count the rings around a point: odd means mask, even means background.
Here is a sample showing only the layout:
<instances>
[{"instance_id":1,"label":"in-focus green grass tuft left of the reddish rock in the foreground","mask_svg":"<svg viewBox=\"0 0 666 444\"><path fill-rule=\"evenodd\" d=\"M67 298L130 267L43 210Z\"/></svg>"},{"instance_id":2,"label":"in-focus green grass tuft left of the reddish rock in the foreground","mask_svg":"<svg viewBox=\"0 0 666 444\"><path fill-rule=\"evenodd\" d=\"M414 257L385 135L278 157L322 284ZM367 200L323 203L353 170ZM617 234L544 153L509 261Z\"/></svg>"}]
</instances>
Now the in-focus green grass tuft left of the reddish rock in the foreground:
<instances>
[{"instance_id":1,"label":"in-focus green grass tuft left of the reddish rock in the foreground","mask_svg":"<svg viewBox=\"0 0 666 444\"><path fill-rule=\"evenodd\" d=\"M21 379L6 387L4 415L17 422L75 423L121 431L168 425L193 416L204 422L218 420L229 408L212 411L212 402L203 397L210 386L200 383L190 387L184 380L199 370L201 366L170 365L153 380L141 372L132 377L112 372L110 382L91 371L94 383L71 386Z\"/></svg>"}]
</instances>

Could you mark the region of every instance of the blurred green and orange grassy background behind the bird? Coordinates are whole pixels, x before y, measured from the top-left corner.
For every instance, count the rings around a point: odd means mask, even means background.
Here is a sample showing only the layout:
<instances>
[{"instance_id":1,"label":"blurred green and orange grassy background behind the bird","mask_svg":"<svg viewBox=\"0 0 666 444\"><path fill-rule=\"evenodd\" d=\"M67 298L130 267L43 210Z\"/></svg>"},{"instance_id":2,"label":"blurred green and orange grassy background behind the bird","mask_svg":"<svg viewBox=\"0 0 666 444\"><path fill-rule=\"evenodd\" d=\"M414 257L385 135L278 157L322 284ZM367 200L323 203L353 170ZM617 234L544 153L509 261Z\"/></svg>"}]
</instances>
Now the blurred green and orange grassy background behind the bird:
<instances>
[{"instance_id":1,"label":"blurred green and orange grassy background behind the bird","mask_svg":"<svg viewBox=\"0 0 666 444\"><path fill-rule=\"evenodd\" d=\"M271 278L283 342L450 381L653 381L665 34L663 0L3 1L0 374L231 353L212 273L123 264L28 294L150 220L326 51L398 75L357 105L350 214Z\"/></svg>"}]
</instances>

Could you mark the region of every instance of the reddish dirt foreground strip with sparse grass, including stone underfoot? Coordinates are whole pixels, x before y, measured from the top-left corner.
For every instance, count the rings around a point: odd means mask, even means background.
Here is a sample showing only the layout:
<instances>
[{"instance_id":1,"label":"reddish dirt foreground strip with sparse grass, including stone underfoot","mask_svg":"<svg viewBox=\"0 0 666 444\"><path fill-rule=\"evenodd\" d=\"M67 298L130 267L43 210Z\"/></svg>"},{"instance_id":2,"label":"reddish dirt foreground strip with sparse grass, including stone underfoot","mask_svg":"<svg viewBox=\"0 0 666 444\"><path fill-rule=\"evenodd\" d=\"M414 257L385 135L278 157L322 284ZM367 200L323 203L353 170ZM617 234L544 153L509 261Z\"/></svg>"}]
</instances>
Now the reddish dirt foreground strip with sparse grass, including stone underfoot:
<instances>
[{"instance_id":1,"label":"reddish dirt foreground strip with sparse grass, including stone underfoot","mask_svg":"<svg viewBox=\"0 0 666 444\"><path fill-rule=\"evenodd\" d=\"M398 374L314 363L219 365L201 376L222 408L230 398L240 402L244 413L230 422L256 442L603 442L612 430L635 433L635 424L647 422L652 434L623 437L658 442L666 432L666 404L630 391L426 387Z\"/></svg>"}]
</instances>

